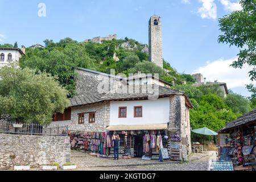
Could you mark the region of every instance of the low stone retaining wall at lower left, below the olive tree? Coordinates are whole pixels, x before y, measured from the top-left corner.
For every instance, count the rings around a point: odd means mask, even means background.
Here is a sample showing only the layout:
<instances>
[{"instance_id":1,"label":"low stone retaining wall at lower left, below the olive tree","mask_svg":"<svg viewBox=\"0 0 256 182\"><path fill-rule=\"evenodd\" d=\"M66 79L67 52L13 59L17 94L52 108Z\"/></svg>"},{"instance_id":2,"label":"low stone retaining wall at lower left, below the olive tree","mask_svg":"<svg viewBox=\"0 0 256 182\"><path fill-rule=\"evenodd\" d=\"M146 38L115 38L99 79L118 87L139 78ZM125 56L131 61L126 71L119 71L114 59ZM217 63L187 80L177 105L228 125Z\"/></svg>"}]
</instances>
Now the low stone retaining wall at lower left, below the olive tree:
<instances>
[{"instance_id":1,"label":"low stone retaining wall at lower left, below the olive tree","mask_svg":"<svg viewBox=\"0 0 256 182\"><path fill-rule=\"evenodd\" d=\"M39 167L43 164L70 161L71 149L68 136L31 136L0 134L0 169L15 164Z\"/></svg>"}]
</instances>

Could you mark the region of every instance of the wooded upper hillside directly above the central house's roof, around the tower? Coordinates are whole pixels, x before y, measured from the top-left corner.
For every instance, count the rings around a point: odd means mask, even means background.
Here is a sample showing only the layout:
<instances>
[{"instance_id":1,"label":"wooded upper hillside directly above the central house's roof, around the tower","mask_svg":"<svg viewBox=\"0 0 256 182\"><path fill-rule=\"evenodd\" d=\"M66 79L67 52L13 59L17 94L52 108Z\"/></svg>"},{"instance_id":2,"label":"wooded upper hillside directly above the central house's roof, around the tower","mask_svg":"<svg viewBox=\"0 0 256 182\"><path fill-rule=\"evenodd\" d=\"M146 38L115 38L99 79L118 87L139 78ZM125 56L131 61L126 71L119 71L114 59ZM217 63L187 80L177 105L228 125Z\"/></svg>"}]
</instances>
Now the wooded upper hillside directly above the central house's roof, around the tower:
<instances>
[{"instance_id":1,"label":"wooded upper hillside directly above the central house's roof, around the tower","mask_svg":"<svg viewBox=\"0 0 256 182\"><path fill-rule=\"evenodd\" d=\"M29 67L38 71L57 76L58 81L69 91L69 96L75 94L75 67L93 69L104 73L159 73L159 78L176 84L184 81L194 81L190 75L180 74L164 61L164 69L148 61L147 45L133 39L103 41L101 44L92 42L77 42L65 38L58 43L45 40L46 48L28 48L26 55L20 59L22 68ZM113 57L116 55L118 61Z\"/></svg>"}]
</instances>

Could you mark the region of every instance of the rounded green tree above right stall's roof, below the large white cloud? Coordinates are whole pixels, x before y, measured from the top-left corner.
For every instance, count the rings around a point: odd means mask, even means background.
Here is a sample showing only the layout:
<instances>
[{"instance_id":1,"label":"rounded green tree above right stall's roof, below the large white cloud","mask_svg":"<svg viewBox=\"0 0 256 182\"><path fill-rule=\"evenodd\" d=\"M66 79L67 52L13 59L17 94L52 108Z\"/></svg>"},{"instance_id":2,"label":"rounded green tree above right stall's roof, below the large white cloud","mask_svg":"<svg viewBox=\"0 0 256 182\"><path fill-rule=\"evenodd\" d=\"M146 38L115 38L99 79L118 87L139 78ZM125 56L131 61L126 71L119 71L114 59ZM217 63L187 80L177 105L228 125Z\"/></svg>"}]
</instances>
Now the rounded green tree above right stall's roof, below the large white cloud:
<instances>
[{"instance_id":1,"label":"rounded green tree above right stall's roof, below the large white cloud","mask_svg":"<svg viewBox=\"0 0 256 182\"><path fill-rule=\"evenodd\" d=\"M251 110L250 101L240 94L232 92L232 90L229 90L229 94L225 98L225 103L234 113L245 114Z\"/></svg>"}]
</instances>

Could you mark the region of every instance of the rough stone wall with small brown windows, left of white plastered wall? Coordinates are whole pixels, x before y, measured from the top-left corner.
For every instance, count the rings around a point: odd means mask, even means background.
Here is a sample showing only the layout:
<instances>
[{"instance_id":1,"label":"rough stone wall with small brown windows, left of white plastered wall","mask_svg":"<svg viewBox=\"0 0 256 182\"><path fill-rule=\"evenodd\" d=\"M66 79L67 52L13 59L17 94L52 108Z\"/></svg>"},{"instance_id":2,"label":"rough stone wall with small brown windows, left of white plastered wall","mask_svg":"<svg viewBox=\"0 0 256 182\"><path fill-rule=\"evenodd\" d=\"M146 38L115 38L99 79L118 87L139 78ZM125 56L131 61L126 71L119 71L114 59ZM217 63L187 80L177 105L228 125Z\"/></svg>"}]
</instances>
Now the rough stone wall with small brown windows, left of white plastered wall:
<instances>
[{"instance_id":1,"label":"rough stone wall with small brown windows, left of white plastered wall","mask_svg":"<svg viewBox=\"0 0 256 182\"><path fill-rule=\"evenodd\" d=\"M95 122L89 123L89 113L95 112ZM84 113L84 123L79 124L79 114ZM94 131L103 132L109 125L109 102L100 102L84 106L72 107L71 121L52 122L52 126L68 125L70 131Z\"/></svg>"}]
</instances>

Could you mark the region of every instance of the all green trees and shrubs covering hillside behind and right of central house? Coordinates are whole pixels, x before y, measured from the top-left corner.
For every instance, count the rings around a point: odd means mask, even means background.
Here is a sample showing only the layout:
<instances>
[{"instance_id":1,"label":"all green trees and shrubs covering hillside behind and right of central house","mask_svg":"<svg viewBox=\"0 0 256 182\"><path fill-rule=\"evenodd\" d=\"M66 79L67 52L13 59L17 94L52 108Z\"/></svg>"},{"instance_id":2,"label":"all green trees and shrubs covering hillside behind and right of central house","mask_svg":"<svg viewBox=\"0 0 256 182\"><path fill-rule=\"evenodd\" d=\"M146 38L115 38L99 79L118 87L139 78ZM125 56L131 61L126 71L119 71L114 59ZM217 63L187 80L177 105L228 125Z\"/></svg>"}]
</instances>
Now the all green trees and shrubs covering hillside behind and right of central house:
<instances>
[{"instance_id":1,"label":"all green trees and shrubs covering hillside behind and right of central house","mask_svg":"<svg viewBox=\"0 0 256 182\"><path fill-rule=\"evenodd\" d=\"M190 98L194 108L190 111L191 127L208 127L214 131L224 127L226 123L250 111L247 98L229 90L228 97L217 85L193 86L195 80L191 75L178 73L164 61L164 69L148 61L148 48L133 39L103 41L101 44L82 42L70 38L53 42L45 40L46 48L28 48L26 55L20 59L20 67L33 68L38 72L47 72L57 77L60 84L68 90L69 97L76 94L75 67L93 69L110 73L159 73L159 77L167 82L175 82L176 89L183 90ZM114 59L118 57L119 60ZM192 140L207 139L192 133ZM212 139L212 137L208 137Z\"/></svg>"}]
</instances>

